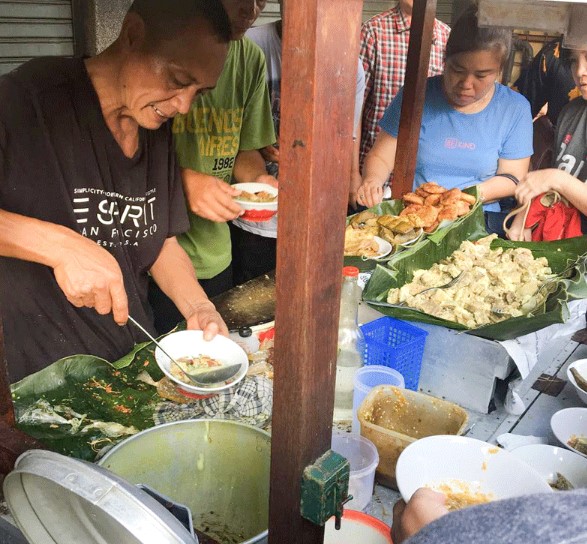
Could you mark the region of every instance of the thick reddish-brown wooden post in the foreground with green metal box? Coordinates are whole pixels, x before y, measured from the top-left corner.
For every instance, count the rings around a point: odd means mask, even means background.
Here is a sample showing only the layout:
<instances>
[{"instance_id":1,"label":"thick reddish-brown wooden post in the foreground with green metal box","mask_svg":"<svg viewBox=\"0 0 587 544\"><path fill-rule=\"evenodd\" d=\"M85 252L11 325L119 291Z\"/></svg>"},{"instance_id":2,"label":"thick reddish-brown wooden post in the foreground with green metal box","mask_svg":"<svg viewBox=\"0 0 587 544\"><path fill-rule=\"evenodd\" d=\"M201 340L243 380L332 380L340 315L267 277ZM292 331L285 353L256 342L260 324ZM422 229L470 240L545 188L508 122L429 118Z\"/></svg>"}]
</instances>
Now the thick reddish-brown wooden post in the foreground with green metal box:
<instances>
[{"instance_id":1,"label":"thick reddish-brown wooden post in the foreground with green metal box","mask_svg":"<svg viewBox=\"0 0 587 544\"><path fill-rule=\"evenodd\" d=\"M270 544L321 544L304 468L330 449L362 0L284 2Z\"/></svg>"}]
</instances>

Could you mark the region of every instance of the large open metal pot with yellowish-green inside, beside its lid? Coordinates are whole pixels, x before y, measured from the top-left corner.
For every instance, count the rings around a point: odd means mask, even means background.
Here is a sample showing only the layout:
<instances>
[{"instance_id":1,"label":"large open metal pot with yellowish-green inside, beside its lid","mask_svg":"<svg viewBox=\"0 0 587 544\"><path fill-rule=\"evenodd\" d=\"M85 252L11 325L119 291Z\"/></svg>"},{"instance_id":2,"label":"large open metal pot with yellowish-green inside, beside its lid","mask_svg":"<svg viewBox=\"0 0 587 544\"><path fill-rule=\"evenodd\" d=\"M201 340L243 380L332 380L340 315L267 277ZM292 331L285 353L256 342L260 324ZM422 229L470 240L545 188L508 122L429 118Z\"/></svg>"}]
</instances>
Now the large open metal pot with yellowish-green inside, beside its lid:
<instances>
[{"instance_id":1,"label":"large open metal pot with yellowish-green inside, beside its lid","mask_svg":"<svg viewBox=\"0 0 587 544\"><path fill-rule=\"evenodd\" d=\"M233 421L189 420L147 429L99 462L190 508L194 527L223 543L267 542L269 433Z\"/></svg>"}]
</instances>

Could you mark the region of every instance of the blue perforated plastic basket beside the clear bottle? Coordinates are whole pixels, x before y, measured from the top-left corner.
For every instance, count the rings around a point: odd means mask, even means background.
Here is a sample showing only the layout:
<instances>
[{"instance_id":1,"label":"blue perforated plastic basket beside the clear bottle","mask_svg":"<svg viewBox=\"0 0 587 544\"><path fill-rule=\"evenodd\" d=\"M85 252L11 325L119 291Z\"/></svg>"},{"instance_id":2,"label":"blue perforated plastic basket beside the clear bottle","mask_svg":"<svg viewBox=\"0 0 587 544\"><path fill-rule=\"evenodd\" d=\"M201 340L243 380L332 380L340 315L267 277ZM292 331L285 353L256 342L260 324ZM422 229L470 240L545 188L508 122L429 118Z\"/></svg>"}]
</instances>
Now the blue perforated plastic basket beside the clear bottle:
<instances>
[{"instance_id":1,"label":"blue perforated plastic basket beside the clear bottle","mask_svg":"<svg viewBox=\"0 0 587 544\"><path fill-rule=\"evenodd\" d=\"M397 370L404 377L406 389L417 391L428 332L393 317L365 323L361 330L365 336L365 364Z\"/></svg>"}]
</instances>

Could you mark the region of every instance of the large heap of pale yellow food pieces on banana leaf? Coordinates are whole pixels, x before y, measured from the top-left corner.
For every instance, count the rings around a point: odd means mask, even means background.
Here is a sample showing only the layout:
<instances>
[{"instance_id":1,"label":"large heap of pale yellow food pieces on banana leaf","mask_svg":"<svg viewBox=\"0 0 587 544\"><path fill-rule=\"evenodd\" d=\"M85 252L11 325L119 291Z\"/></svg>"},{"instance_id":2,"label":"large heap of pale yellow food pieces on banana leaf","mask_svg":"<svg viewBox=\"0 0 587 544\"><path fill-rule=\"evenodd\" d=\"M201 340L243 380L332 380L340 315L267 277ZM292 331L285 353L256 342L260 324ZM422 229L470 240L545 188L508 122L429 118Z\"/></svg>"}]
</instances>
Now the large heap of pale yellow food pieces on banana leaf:
<instances>
[{"instance_id":1,"label":"large heap of pale yellow food pieces on banana leaf","mask_svg":"<svg viewBox=\"0 0 587 544\"><path fill-rule=\"evenodd\" d=\"M387 302L469 328L527 315L546 299L542 286L551 269L544 257L535 259L529 249L491 249L495 238L463 242L449 258L416 270L411 282L390 289ZM428 290L457 277L449 288Z\"/></svg>"}]
</instances>

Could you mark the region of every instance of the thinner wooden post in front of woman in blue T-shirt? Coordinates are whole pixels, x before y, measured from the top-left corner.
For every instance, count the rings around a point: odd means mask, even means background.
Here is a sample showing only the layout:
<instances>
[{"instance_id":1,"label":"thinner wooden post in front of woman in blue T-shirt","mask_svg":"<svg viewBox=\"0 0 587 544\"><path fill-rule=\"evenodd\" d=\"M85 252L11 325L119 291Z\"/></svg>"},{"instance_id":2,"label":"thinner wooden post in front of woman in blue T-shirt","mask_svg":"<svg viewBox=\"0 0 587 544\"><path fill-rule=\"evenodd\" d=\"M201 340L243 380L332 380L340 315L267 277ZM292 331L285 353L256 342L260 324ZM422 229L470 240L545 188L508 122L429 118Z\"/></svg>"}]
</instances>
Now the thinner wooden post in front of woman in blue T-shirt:
<instances>
[{"instance_id":1,"label":"thinner wooden post in front of woman in blue T-shirt","mask_svg":"<svg viewBox=\"0 0 587 544\"><path fill-rule=\"evenodd\" d=\"M404 97L391 185L393 198L401 198L410 192L414 183L435 15L436 0L414 0Z\"/></svg>"}]
</instances>

